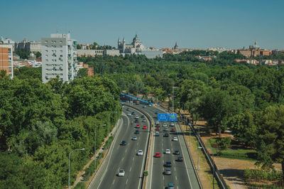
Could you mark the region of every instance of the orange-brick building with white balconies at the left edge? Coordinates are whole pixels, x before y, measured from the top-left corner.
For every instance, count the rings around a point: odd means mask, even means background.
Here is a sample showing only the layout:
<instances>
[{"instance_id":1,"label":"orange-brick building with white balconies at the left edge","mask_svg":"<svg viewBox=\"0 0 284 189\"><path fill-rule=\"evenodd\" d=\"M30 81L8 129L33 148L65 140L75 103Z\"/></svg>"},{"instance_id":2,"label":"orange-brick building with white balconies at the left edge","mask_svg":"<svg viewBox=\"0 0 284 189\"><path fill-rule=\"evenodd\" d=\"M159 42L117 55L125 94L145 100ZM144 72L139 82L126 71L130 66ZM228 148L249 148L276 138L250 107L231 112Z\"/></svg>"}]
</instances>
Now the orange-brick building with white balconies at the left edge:
<instances>
[{"instance_id":1,"label":"orange-brick building with white balconies at the left edge","mask_svg":"<svg viewBox=\"0 0 284 189\"><path fill-rule=\"evenodd\" d=\"M0 70L13 78L13 45L0 45Z\"/></svg>"}]
</instances>

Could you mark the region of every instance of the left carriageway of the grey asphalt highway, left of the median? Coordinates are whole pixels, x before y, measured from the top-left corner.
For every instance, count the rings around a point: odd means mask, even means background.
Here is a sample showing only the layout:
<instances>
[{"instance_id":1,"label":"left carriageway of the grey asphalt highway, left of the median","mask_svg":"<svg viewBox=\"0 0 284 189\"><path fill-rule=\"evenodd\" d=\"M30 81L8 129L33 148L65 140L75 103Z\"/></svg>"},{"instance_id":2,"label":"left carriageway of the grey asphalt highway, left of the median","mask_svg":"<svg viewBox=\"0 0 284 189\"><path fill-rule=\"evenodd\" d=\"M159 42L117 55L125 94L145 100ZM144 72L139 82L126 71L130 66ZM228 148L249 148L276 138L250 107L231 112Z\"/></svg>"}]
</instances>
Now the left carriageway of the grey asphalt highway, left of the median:
<instances>
[{"instance_id":1,"label":"left carriageway of the grey asphalt highway, left of the median","mask_svg":"<svg viewBox=\"0 0 284 189\"><path fill-rule=\"evenodd\" d=\"M89 188L141 188L141 175L143 174L143 163L145 162L146 144L149 137L149 121L142 122L141 113L127 107L123 108L121 116L121 126L114 137L109 153L107 154L104 163L97 171ZM128 113L135 112L135 115L127 116ZM141 126L140 134L134 134L136 131L136 123L134 123L135 116L139 116L139 124ZM131 125L133 121L133 125ZM147 129L142 129L146 124ZM131 140L133 136L137 136L137 141ZM126 146L120 146L121 141L126 141ZM143 156L137 156L138 150L143 150ZM124 177L117 176L119 169L123 168L125 171Z\"/></svg>"}]
</instances>

